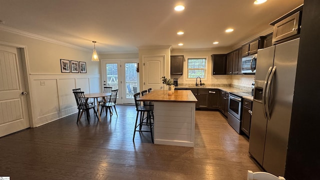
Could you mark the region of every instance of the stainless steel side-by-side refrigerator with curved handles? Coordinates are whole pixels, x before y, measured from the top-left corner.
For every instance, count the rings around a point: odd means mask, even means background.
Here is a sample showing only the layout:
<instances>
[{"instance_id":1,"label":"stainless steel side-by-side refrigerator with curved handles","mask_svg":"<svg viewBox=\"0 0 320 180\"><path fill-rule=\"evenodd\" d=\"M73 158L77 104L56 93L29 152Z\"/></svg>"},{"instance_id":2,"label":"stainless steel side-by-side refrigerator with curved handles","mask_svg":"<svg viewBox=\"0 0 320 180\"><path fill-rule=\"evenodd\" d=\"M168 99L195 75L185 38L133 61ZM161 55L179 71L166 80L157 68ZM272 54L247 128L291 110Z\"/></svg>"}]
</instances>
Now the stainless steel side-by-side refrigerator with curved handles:
<instances>
[{"instance_id":1,"label":"stainless steel side-by-side refrigerator with curved handles","mask_svg":"<svg viewBox=\"0 0 320 180\"><path fill-rule=\"evenodd\" d=\"M299 38L257 52L249 152L267 171L284 175Z\"/></svg>"}]
</instances>

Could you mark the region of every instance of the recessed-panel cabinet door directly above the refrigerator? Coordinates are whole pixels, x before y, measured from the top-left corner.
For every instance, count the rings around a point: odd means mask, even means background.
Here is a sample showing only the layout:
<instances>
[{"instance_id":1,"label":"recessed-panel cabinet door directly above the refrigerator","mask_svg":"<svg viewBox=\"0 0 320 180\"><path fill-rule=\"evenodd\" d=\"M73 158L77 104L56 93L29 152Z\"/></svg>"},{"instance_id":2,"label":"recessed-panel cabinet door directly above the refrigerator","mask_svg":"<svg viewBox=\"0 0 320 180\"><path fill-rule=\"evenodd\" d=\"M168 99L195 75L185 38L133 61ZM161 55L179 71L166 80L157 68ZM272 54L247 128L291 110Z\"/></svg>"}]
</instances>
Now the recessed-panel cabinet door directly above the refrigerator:
<instances>
[{"instance_id":1,"label":"recessed-panel cabinet door directly above the refrigerator","mask_svg":"<svg viewBox=\"0 0 320 180\"><path fill-rule=\"evenodd\" d=\"M277 42L298 34L300 31L300 11L274 24L272 41Z\"/></svg>"}]
</instances>

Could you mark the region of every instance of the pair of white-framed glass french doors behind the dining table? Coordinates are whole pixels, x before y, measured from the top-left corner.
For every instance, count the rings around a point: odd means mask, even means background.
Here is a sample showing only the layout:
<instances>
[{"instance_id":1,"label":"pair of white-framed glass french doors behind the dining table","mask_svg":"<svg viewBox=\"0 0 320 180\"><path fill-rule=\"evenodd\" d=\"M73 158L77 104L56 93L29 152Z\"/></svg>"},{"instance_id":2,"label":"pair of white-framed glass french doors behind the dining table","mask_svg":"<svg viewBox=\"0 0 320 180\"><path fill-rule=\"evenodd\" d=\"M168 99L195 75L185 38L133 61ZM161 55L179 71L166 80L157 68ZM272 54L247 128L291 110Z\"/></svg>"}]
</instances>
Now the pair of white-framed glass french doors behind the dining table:
<instances>
[{"instance_id":1,"label":"pair of white-framed glass french doors behind the dining table","mask_svg":"<svg viewBox=\"0 0 320 180\"><path fill-rule=\"evenodd\" d=\"M139 91L138 59L102 60L103 86L118 89L117 103L134 103L133 94Z\"/></svg>"}]
</instances>

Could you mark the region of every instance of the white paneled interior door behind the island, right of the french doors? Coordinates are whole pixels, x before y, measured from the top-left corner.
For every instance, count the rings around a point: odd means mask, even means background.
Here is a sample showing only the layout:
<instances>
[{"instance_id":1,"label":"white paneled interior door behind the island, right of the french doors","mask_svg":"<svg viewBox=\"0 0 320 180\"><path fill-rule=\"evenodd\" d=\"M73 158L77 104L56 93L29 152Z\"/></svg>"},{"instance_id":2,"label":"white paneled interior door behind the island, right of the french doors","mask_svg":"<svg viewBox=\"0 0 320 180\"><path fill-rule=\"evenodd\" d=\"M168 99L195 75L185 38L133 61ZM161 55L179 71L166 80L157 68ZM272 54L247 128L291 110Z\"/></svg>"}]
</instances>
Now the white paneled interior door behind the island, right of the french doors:
<instances>
[{"instance_id":1,"label":"white paneled interior door behind the island, right of the french doors","mask_svg":"<svg viewBox=\"0 0 320 180\"><path fill-rule=\"evenodd\" d=\"M143 57L143 89L162 89L161 77L164 75L164 56Z\"/></svg>"}]
</instances>

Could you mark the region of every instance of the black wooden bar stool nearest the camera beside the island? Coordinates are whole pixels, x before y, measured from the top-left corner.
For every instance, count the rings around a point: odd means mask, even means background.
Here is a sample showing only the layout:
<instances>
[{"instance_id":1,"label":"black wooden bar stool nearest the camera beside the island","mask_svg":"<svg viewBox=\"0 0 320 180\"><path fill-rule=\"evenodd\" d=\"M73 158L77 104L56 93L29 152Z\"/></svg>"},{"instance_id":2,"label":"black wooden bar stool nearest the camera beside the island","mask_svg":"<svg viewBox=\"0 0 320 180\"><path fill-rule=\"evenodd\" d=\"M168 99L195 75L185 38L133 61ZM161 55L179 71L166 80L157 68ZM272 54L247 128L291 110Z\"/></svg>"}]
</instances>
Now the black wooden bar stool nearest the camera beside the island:
<instances>
[{"instance_id":1,"label":"black wooden bar stool nearest the camera beside the island","mask_svg":"<svg viewBox=\"0 0 320 180\"><path fill-rule=\"evenodd\" d=\"M140 92L137 92L135 94L133 94L134 97L134 102L135 102L135 110L136 110L136 118L135 118L135 124L134 124L134 131L133 131L133 138L132 140L134 141L134 135L135 132L150 132L151 134L151 140L153 143L153 134L152 134L152 128L153 128L153 123L151 123L151 116L153 117L153 106L150 105L145 105L142 106L140 101L136 100L140 97ZM144 121L144 112L146 112L146 121ZM140 113L140 115L139 115ZM139 118L139 123L138 123L138 117ZM153 117L154 119L154 117ZM148 126L150 128L150 130L142 130L142 125ZM139 127L139 129L137 130L137 127Z\"/></svg>"}]
</instances>

